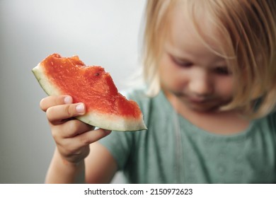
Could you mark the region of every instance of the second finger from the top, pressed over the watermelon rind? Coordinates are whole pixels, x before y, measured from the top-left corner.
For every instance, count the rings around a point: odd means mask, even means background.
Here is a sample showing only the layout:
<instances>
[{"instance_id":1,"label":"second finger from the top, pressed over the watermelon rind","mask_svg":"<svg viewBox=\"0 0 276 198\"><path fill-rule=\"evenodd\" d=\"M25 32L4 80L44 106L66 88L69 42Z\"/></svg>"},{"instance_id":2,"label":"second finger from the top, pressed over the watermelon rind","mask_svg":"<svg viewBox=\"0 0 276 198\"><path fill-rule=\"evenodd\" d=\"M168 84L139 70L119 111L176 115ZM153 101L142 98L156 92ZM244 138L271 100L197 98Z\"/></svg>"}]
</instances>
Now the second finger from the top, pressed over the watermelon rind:
<instances>
[{"instance_id":1,"label":"second finger from the top, pressed over the watermelon rind","mask_svg":"<svg viewBox=\"0 0 276 198\"><path fill-rule=\"evenodd\" d=\"M84 103L57 105L46 110L47 119L51 124L61 124L71 117L84 115L86 107Z\"/></svg>"}]
</instances>

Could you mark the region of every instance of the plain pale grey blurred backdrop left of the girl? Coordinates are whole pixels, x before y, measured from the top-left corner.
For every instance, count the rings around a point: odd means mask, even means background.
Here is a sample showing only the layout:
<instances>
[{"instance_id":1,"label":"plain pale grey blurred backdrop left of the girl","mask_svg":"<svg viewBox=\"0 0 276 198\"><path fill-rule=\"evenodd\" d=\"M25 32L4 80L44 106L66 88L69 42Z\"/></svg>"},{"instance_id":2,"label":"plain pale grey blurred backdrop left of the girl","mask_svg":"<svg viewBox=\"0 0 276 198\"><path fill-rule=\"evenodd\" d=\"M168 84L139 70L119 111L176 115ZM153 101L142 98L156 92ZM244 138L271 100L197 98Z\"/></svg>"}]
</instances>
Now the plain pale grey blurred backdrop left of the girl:
<instances>
[{"instance_id":1,"label":"plain pale grey blurred backdrop left of the girl","mask_svg":"<svg viewBox=\"0 0 276 198\"><path fill-rule=\"evenodd\" d=\"M0 183L43 183L54 151L31 69L52 53L105 67L119 90L140 65L145 0L0 0ZM120 182L120 176L114 182Z\"/></svg>"}]
</instances>

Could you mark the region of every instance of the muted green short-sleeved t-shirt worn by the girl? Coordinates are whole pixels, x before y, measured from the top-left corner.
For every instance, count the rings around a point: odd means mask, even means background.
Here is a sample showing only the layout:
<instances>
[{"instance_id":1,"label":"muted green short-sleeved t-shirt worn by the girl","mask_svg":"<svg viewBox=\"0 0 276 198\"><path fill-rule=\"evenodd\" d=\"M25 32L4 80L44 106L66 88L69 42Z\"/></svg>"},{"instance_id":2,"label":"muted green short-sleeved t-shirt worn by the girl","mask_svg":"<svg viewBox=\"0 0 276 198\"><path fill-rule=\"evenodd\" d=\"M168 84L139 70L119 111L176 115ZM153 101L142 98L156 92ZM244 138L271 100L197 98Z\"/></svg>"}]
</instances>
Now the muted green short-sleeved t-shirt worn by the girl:
<instances>
[{"instance_id":1,"label":"muted green short-sleeved t-shirt worn by the girl","mask_svg":"<svg viewBox=\"0 0 276 198\"><path fill-rule=\"evenodd\" d=\"M163 92L137 101L148 130L112 132L100 140L129 183L275 183L276 113L243 132L212 134L177 115Z\"/></svg>"}]
</instances>

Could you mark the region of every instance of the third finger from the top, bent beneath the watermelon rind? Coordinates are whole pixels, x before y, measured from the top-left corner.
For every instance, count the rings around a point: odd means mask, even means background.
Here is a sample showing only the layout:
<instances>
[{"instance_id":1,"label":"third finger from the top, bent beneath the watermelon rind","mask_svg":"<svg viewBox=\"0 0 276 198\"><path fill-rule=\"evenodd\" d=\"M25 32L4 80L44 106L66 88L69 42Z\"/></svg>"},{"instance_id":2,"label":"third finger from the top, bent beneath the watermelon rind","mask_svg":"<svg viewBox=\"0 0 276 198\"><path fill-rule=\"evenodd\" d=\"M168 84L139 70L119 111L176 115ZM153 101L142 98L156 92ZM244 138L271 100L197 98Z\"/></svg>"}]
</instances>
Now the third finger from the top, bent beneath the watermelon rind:
<instances>
[{"instance_id":1,"label":"third finger from the top, bent beneath the watermelon rind","mask_svg":"<svg viewBox=\"0 0 276 198\"><path fill-rule=\"evenodd\" d=\"M69 120L64 124L59 124L58 127L59 129L52 130L52 136L61 138L71 138L95 129L95 127L76 119Z\"/></svg>"}]
</instances>

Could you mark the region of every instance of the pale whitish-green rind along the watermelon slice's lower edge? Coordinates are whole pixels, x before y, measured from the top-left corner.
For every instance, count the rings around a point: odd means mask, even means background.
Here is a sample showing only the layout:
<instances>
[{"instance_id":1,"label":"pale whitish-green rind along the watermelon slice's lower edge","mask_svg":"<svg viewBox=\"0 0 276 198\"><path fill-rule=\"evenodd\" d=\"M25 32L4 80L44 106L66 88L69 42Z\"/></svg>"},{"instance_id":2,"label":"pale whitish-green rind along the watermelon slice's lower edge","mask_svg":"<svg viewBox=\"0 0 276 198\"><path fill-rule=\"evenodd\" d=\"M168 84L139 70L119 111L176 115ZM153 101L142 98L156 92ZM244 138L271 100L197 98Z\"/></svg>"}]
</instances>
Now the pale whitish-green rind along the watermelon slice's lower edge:
<instances>
[{"instance_id":1,"label":"pale whitish-green rind along the watermelon slice's lower edge","mask_svg":"<svg viewBox=\"0 0 276 198\"><path fill-rule=\"evenodd\" d=\"M45 76L42 66L38 64L32 69L35 78L48 95L62 95L62 92L54 86ZM78 120L90 124L94 127L113 131L127 132L146 129L143 117L139 120L126 118L118 115L108 115L99 112L87 112L86 115L76 117Z\"/></svg>"}]
</instances>

